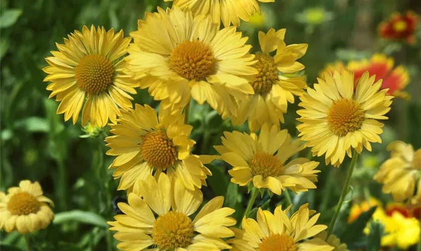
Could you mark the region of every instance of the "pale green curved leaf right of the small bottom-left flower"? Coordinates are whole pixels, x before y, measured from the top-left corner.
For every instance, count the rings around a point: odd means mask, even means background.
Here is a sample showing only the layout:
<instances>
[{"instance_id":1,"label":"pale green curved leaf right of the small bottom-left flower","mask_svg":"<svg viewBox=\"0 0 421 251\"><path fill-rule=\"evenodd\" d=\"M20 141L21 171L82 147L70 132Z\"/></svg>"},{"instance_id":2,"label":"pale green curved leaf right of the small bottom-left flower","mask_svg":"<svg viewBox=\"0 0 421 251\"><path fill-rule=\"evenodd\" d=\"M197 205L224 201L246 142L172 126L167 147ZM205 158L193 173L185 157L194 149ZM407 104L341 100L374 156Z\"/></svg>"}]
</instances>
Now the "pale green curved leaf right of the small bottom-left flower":
<instances>
[{"instance_id":1,"label":"pale green curved leaf right of the small bottom-left flower","mask_svg":"<svg viewBox=\"0 0 421 251\"><path fill-rule=\"evenodd\" d=\"M53 223L61 224L67 221L77 221L81 223L92 224L101 227L109 227L106 220L100 215L82 210L73 210L67 212L57 213Z\"/></svg>"}]
</instances>

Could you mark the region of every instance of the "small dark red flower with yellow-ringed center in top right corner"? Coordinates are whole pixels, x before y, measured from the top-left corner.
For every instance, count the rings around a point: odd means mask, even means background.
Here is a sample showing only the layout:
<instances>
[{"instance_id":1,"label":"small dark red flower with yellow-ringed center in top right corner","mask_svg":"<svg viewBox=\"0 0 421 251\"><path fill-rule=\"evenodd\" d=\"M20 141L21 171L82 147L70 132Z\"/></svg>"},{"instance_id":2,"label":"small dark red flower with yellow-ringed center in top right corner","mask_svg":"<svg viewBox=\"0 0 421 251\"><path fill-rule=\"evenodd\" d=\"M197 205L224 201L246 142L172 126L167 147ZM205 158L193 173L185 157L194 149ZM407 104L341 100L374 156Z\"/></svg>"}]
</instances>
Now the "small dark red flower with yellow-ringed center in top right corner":
<instances>
[{"instance_id":1,"label":"small dark red flower with yellow-ringed center in top right corner","mask_svg":"<svg viewBox=\"0 0 421 251\"><path fill-rule=\"evenodd\" d=\"M414 44L418 23L418 16L411 11L404 15L394 13L390 20L380 23L378 33L385 39L404 40L406 43Z\"/></svg>"}]
</instances>

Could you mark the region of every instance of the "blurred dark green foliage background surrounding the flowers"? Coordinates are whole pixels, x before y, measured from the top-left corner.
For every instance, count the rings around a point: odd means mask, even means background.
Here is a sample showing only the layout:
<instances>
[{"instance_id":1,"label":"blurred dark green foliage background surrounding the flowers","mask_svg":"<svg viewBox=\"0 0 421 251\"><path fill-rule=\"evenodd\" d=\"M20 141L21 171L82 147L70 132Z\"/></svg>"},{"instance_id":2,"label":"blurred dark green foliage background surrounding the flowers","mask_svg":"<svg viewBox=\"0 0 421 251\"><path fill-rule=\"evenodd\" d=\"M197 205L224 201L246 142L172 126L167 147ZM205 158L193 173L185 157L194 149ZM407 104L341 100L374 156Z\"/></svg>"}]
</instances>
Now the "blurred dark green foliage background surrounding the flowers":
<instances>
[{"instance_id":1,"label":"blurred dark green foliage background surrounding the flowers","mask_svg":"<svg viewBox=\"0 0 421 251\"><path fill-rule=\"evenodd\" d=\"M23 179L39 181L45 194L56 203L54 224L31 236L34 250L114 250L116 242L107 234L105 221L116 213L115 199L125 197L124 192L116 191L118 181L112 179L112 170L107 170L112 161L104 155L107 129L98 137L81 138L86 133L80 121L73 126L71 121L64 122L63 115L56 115L58 103L48 99L50 93L43 82L44 58L56 50L56 42L63 43L63 37L81 30L83 25L123 29L128 36L145 11L168 6L162 2L0 0L0 190L17 186ZM250 38L253 50L259 49L257 32L266 32L270 27L287 28L287 44L308 43L308 52L301 62L306 66L304 74L309 85L329 62L362 59L384 50L395 58L396 64L408 69L411 82L406 91L412 99L394 101L382 135L383 144L373 146L372 154L365 153L359 159L353 180L355 198L364 192L379 197L380 186L371 181L371 176L387 157L385 146L399 139L415 149L421 148L421 50L419 43L385 46L377 38L376 29L379 22L395 11L413 10L419 15L421 1L276 0L261 6L263 18L255 24L243 23L240 30ZM297 135L297 100L289 106L283 126L293 136ZM157 104L146 90L138 91L135 102ZM190 121L194 126L192 137L197 141L193 150L196 154L215 154L212 146L220 144L223 131L246 130L245 126L233 128L229 120L222 121L206 105L193 105ZM325 167L323 159L320 162L318 189L295 196L294 202L298 207L309 201L311 208L322 212L321 221L327 223L339 197L345 170ZM229 167L225 164L217 162L209 168L214 176L203 189L205 200L229 191L226 204L237 209L235 216L239 219L247 203L245 189L229 183ZM264 197L259 205L273 208L283 201L277 196L268 199ZM338 229L341 227L346 226L339 222ZM108 243L114 241L113 247L107 246L107 238ZM355 238L363 239L362 235ZM23 239L18 233L0 231L1 250L22 247Z\"/></svg>"}]
</instances>

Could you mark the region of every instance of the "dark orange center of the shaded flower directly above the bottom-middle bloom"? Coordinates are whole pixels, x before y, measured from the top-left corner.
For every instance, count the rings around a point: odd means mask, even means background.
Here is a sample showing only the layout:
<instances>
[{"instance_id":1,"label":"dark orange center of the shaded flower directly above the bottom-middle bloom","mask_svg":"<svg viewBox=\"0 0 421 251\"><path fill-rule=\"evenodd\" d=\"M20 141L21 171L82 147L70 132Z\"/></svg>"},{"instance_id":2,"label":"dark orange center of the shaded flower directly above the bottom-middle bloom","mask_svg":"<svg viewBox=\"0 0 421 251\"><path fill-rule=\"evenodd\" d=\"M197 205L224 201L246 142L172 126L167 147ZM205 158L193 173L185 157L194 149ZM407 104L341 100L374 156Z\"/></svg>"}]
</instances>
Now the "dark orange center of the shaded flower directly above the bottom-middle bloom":
<instances>
[{"instance_id":1,"label":"dark orange center of the shaded flower directly above the bottom-middle bloom","mask_svg":"<svg viewBox=\"0 0 421 251\"><path fill-rule=\"evenodd\" d=\"M178 151L165 132L154 131L146 133L140 144L143 159L152 167L165 170L173 166L178 157Z\"/></svg>"}]
</instances>

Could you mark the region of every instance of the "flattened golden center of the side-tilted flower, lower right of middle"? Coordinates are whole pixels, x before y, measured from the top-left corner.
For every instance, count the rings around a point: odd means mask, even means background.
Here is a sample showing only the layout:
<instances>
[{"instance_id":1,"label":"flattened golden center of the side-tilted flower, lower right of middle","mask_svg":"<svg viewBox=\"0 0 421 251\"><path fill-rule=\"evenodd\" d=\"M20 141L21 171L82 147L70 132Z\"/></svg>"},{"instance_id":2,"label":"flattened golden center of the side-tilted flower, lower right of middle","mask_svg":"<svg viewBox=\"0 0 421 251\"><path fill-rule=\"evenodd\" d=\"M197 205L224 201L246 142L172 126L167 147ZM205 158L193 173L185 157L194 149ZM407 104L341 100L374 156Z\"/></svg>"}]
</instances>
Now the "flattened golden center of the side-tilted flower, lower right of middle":
<instances>
[{"instance_id":1,"label":"flattened golden center of the side-tilted flower, lower right of middle","mask_svg":"<svg viewBox=\"0 0 421 251\"><path fill-rule=\"evenodd\" d=\"M277 177L284 173L282 162L276 156L258 152L249 163L253 176L262 175L263 178Z\"/></svg>"}]
</instances>

